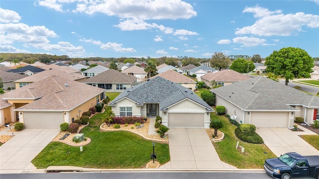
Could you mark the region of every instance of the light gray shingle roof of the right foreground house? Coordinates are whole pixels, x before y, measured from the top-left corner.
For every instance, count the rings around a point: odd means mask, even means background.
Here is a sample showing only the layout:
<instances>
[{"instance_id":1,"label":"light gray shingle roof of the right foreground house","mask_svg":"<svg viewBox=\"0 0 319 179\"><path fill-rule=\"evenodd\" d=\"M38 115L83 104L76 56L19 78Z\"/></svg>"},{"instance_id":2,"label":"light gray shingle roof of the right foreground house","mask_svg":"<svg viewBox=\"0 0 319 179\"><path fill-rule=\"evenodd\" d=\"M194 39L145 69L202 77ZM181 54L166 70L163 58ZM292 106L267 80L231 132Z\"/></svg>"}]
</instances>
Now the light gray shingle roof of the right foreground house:
<instances>
[{"instance_id":1,"label":"light gray shingle roof of the right foreground house","mask_svg":"<svg viewBox=\"0 0 319 179\"><path fill-rule=\"evenodd\" d=\"M296 110L290 105L319 107L319 97L265 77L251 78L211 91L243 110Z\"/></svg>"}]
</instances>

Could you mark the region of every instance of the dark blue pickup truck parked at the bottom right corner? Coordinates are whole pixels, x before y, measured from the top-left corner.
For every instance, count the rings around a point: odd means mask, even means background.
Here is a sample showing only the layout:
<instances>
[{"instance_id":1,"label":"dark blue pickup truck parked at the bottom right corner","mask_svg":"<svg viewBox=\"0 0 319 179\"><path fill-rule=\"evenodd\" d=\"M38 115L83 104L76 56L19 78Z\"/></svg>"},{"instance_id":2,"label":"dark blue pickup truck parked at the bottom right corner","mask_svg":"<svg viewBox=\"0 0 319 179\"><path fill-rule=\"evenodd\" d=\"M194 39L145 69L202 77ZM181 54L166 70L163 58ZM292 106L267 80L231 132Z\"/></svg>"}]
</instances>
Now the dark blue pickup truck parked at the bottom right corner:
<instances>
[{"instance_id":1,"label":"dark blue pickup truck parked at the bottom right corner","mask_svg":"<svg viewBox=\"0 0 319 179\"><path fill-rule=\"evenodd\" d=\"M301 156L296 152L267 159L264 169L273 178L315 177L319 179L319 156Z\"/></svg>"}]
</instances>

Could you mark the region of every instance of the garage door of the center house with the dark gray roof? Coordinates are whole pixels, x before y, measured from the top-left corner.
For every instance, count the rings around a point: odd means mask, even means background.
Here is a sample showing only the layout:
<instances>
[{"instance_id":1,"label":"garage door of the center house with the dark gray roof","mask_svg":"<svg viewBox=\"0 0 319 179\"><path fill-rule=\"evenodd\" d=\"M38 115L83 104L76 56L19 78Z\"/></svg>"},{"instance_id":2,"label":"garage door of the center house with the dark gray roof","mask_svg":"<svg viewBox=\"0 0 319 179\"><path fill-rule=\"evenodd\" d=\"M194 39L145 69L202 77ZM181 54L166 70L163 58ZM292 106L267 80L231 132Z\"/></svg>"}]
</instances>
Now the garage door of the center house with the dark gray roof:
<instances>
[{"instance_id":1,"label":"garage door of the center house with the dark gray roof","mask_svg":"<svg viewBox=\"0 0 319 179\"><path fill-rule=\"evenodd\" d=\"M168 127L204 127L204 114L168 113Z\"/></svg>"}]
</instances>

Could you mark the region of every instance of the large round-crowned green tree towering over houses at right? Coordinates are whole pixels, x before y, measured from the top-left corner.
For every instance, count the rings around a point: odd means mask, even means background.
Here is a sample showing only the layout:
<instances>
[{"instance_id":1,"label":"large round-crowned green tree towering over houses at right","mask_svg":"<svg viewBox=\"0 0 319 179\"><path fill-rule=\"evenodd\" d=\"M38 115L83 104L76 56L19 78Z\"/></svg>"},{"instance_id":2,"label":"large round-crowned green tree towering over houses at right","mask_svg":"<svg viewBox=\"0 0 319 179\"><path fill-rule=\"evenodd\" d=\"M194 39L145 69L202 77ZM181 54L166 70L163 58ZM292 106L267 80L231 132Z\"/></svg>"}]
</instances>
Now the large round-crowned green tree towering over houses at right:
<instances>
[{"instance_id":1,"label":"large round-crowned green tree towering over houses at right","mask_svg":"<svg viewBox=\"0 0 319 179\"><path fill-rule=\"evenodd\" d=\"M314 59L303 49L286 47L266 57L265 65L268 73L285 78L288 86L289 80L294 78L310 78Z\"/></svg>"}]
</instances>

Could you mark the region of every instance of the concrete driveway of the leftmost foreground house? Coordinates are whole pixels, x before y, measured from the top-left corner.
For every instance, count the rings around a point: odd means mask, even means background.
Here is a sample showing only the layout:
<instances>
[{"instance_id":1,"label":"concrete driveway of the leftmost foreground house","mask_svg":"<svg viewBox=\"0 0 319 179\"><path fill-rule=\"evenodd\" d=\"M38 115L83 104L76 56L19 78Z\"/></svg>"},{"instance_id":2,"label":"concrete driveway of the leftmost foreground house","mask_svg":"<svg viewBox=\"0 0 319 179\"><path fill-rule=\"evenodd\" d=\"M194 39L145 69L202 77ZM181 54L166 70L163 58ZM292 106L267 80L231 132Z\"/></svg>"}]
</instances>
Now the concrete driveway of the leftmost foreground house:
<instances>
[{"instance_id":1,"label":"concrete driveway of the leftmost foreground house","mask_svg":"<svg viewBox=\"0 0 319 179\"><path fill-rule=\"evenodd\" d=\"M60 129L23 129L14 132L14 137L0 146L0 172L36 169L31 163ZM12 135L0 131L1 135Z\"/></svg>"}]
</instances>

